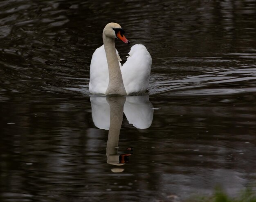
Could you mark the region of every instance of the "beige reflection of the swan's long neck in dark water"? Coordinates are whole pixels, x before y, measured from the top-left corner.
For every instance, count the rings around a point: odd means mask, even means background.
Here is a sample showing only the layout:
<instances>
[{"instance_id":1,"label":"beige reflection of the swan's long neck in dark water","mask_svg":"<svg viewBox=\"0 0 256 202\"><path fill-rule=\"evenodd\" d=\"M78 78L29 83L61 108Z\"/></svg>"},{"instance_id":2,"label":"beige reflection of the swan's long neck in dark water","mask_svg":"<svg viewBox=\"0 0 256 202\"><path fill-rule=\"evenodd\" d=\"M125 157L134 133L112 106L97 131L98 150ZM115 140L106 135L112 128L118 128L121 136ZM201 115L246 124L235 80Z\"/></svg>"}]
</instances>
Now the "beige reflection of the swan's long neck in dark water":
<instances>
[{"instance_id":1,"label":"beige reflection of the swan's long neck in dark water","mask_svg":"<svg viewBox=\"0 0 256 202\"><path fill-rule=\"evenodd\" d=\"M110 127L108 131L107 143L107 163L112 165L123 165L119 163L117 146L119 141L120 129L123 121L125 97L107 97L110 106Z\"/></svg>"}]
</instances>

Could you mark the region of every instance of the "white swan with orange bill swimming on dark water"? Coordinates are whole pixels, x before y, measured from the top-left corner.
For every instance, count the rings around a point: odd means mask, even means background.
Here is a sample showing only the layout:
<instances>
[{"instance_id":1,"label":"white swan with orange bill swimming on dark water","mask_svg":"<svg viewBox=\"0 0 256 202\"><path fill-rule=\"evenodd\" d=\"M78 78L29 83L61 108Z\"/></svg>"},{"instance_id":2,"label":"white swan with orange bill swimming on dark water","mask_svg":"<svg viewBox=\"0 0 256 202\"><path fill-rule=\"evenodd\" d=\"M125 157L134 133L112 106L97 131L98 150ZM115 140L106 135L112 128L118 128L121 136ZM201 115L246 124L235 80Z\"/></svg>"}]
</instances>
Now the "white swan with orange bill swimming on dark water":
<instances>
[{"instance_id":1,"label":"white swan with orange bill swimming on dark water","mask_svg":"<svg viewBox=\"0 0 256 202\"><path fill-rule=\"evenodd\" d=\"M146 47L142 44L132 46L127 61L121 66L115 38L130 44L124 30L111 22L103 29L102 36L103 45L95 50L90 64L90 93L129 95L146 92L152 64Z\"/></svg>"}]
</instances>

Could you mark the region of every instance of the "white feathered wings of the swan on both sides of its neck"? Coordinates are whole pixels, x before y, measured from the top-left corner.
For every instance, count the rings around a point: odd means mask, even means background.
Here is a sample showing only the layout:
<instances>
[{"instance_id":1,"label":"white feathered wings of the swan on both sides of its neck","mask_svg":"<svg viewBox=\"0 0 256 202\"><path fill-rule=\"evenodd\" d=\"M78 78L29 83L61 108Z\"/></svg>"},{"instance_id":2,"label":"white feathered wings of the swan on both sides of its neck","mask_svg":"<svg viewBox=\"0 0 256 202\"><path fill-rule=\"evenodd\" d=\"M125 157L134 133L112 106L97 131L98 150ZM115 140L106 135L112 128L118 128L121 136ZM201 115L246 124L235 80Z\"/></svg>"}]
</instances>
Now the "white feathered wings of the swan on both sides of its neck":
<instances>
[{"instance_id":1,"label":"white feathered wings of the swan on both sides of its neck","mask_svg":"<svg viewBox=\"0 0 256 202\"><path fill-rule=\"evenodd\" d=\"M119 56L118 52L117 55ZM132 46L123 66L119 62L127 94L146 92L151 64L151 56L142 44ZM91 94L105 94L107 87L108 63L103 45L92 55L89 90Z\"/></svg>"}]
</instances>

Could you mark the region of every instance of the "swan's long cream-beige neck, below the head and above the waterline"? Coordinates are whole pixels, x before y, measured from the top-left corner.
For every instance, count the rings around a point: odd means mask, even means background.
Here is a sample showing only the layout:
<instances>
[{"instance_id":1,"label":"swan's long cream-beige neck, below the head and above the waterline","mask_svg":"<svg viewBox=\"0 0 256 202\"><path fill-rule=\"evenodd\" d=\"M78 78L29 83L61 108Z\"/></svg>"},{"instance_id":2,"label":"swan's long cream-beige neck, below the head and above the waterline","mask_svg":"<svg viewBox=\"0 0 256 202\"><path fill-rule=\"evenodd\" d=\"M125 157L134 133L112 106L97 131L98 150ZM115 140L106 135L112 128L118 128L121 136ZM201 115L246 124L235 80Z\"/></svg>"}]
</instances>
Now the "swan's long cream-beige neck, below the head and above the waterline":
<instances>
[{"instance_id":1,"label":"swan's long cream-beige neck, below the head and above the waterline","mask_svg":"<svg viewBox=\"0 0 256 202\"><path fill-rule=\"evenodd\" d=\"M114 40L114 38L106 37L106 35L103 34L103 43L108 61L109 75L108 88L105 94L126 95Z\"/></svg>"}]
</instances>

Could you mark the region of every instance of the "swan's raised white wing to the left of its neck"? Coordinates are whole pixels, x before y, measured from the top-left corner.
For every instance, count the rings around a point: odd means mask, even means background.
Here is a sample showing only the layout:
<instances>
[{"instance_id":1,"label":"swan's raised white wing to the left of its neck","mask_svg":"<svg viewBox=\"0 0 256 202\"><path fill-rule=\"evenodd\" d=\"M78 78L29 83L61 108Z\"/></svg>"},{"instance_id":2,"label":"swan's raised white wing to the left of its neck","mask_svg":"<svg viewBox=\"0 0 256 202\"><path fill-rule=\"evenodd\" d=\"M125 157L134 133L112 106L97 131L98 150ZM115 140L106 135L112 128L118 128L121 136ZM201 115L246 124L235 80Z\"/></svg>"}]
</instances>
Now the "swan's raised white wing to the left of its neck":
<instances>
[{"instance_id":1,"label":"swan's raised white wing to the left of its neck","mask_svg":"<svg viewBox=\"0 0 256 202\"><path fill-rule=\"evenodd\" d=\"M117 50L116 50L117 51ZM118 52L117 57L121 60ZM121 63L119 62L121 67ZM105 94L108 88L108 62L104 45L97 48L93 55L90 65L89 90L91 94Z\"/></svg>"}]
</instances>

